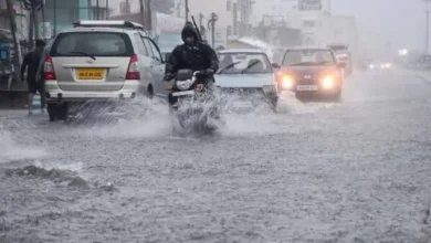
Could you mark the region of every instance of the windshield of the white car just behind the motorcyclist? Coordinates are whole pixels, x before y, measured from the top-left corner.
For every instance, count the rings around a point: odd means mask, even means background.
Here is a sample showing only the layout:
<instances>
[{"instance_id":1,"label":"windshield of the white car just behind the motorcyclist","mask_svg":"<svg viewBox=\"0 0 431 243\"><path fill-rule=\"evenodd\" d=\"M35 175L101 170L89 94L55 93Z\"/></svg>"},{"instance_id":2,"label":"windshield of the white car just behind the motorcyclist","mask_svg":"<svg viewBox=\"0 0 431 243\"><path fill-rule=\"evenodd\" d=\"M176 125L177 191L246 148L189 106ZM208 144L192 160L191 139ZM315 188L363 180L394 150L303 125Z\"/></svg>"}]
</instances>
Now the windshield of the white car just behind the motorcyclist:
<instances>
[{"instance_id":1,"label":"windshield of the white car just behind the motorcyclist","mask_svg":"<svg viewBox=\"0 0 431 243\"><path fill-rule=\"evenodd\" d=\"M264 53L220 53L220 74L271 73L272 66Z\"/></svg>"}]
</instances>

